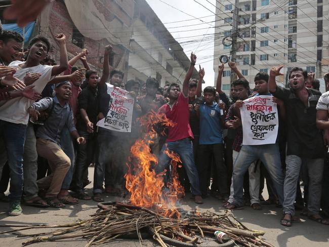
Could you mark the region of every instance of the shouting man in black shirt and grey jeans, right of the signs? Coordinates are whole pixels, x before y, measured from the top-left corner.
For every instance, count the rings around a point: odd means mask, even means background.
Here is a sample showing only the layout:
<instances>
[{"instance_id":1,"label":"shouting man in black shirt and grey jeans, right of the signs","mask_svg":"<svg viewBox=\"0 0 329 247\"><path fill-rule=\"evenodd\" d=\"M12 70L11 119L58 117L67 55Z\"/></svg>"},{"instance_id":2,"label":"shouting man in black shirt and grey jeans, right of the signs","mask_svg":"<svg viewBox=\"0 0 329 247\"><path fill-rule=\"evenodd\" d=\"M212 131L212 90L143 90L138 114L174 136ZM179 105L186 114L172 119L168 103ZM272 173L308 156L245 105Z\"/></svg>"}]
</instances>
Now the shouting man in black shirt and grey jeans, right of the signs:
<instances>
[{"instance_id":1,"label":"shouting man in black shirt and grey jeans, right of the signs","mask_svg":"<svg viewBox=\"0 0 329 247\"><path fill-rule=\"evenodd\" d=\"M291 89L276 86L275 77L283 75L280 73L282 67L272 68L269 79L269 91L274 97L282 99L286 108L286 176L281 224L284 226L292 224L295 215L296 186L302 161L307 164L309 176L308 217L326 224L327 222L319 215L325 154L322 133L316 127L316 105L321 93L306 88L307 71L298 67L293 68L289 73Z\"/></svg>"}]
</instances>

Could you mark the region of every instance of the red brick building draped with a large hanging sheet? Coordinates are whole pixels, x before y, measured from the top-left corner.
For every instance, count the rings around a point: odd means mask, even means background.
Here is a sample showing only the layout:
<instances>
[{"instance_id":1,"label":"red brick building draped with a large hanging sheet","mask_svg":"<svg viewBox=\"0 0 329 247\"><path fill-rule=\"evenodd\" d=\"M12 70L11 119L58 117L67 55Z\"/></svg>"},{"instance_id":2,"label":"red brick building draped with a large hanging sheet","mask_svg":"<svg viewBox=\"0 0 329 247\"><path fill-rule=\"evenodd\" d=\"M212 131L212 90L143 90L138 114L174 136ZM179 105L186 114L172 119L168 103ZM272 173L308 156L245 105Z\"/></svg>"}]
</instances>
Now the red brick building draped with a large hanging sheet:
<instances>
[{"instance_id":1,"label":"red brick building draped with a large hanging sheet","mask_svg":"<svg viewBox=\"0 0 329 247\"><path fill-rule=\"evenodd\" d=\"M133 0L57 0L37 18L35 29L51 39L50 57L56 61L59 61L59 47L54 36L64 33L69 59L86 48L91 68L101 70L104 47L111 44L110 65L125 71L133 17ZM82 66L80 62L78 65Z\"/></svg>"}]
</instances>

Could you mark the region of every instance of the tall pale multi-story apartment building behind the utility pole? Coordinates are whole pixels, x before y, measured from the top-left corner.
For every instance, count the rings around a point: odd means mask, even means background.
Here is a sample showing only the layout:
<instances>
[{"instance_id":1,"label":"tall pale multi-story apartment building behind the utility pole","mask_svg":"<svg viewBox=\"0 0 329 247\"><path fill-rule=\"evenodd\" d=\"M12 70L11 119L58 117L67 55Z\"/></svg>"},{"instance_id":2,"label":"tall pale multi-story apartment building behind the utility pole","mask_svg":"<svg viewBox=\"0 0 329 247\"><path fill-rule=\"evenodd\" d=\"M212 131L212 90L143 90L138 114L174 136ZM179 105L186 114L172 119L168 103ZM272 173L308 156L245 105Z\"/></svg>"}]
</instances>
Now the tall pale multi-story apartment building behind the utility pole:
<instances>
[{"instance_id":1,"label":"tall pale multi-story apartment building behind the utility pole","mask_svg":"<svg viewBox=\"0 0 329 247\"><path fill-rule=\"evenodd\" d=\"M214 56L230 55L231 46L224 42L231 35L235 2L216 1ZM284 65L278 83L286 86L287 72L293 67L315 71L316 78L328 72L329 3L323 0L240 0L237 6L238 36L236 62L254 88L254 76ZM219 38L220 36L220 38ZM230 37L227 38L228 40ZM226 40L227 40L226 39ZM218 59L214 60L215 78ZM222 89L229 92L230 69L225 66Z\"/></svg>"}]
</instances>

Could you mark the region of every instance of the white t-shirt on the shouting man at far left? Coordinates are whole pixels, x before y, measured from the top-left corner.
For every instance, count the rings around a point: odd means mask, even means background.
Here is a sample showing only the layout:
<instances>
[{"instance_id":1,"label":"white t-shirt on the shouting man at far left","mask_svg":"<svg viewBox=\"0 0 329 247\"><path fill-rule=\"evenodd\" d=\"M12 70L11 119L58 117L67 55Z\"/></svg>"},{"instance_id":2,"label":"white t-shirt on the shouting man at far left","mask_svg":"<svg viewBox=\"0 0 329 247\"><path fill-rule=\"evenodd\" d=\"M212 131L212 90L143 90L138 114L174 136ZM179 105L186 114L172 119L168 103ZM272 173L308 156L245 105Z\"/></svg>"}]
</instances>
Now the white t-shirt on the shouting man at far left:
<instances>
[{"instance_id":1,"label":"white t-shirt on the shouting man at far left","mask_svg":"<svg viewBox=\"0 0 329 247\"><path fill-rule=\"evenodd\" d=\"M52 79L52 68L49 65L37 65L29 68L21 68L19 65L24 62L14 61L9 66L16 69L14 76L21 81L24 81L24 77L27 73L40 73L41 76L32 85L35 92L42 93L48 82ZM3 101L0 106L0 119L13 123L21 123L27 125L29 114L27 109L35 102L25 97L17 97L11 100Z\"/></svg>"}]
</instances>

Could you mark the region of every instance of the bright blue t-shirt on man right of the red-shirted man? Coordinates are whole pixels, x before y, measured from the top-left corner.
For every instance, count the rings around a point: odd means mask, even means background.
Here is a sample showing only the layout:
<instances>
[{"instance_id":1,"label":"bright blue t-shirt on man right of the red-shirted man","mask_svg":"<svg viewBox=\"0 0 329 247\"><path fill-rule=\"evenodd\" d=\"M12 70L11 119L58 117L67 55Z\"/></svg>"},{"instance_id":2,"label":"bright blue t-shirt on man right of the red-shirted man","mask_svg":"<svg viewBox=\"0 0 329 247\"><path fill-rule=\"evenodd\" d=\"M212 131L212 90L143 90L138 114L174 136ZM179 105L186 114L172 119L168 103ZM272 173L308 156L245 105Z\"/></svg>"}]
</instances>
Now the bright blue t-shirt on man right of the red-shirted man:
<instances>
[{"instance_id":1,"label":"bright blue t-shirt on man right of the red-shirted man","mask_svg":"<svg viewBox=\"0 0 329 247\"><path fill-rule=\"evenodd\" d=\"M200 145L223 144L223 133L221 127L221 110L217 103L199 106L200 116Z\"/></svg>"}]
</instances>

